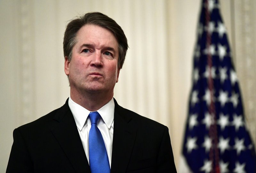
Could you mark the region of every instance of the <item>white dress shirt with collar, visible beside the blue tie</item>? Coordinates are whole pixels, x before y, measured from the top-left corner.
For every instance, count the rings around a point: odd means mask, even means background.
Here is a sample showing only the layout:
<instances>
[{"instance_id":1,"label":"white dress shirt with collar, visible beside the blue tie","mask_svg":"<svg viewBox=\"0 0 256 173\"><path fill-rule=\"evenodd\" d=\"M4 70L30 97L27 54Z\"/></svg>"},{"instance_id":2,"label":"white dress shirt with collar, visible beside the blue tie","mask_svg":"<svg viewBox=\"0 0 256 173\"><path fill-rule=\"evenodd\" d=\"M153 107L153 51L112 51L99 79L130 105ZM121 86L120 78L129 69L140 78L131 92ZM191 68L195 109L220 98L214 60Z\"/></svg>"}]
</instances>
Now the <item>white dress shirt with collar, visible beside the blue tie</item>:
<instances>
[{"instance_id":1,"label":"white dress shirt with collar, visible beside the blue tie","mask_svg":"<svg viewBox=\"0 0 256 173\"><path fill-rule=\"evenodd\" d=\"M88 117L90 111L75 103L70 97L68 99L68 106L74 116L78 133L80 135L84 152L86 154L88 163L89 162L89 131L91 129L91 120ZM111 157L112 157L112 145L113 145L113 131L114 131L114 112L115 103L112 98L106 105L101 107L99 110L101 118L97 123L108 154L109 166L111 167Z\"/></svg>"}]
</instances>

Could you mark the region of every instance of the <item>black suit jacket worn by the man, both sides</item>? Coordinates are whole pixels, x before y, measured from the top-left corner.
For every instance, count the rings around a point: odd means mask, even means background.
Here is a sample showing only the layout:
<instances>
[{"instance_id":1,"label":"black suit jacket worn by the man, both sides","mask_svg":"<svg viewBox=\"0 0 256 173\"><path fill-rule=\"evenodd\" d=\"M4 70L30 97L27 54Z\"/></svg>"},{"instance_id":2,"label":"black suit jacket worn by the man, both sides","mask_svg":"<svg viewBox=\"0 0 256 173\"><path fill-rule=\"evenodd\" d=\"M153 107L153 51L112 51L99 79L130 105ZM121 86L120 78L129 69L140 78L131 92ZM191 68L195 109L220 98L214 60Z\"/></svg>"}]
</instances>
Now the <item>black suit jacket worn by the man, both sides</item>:
<instances>
[{"instance_id":1,"label":"black suit jacket worn by the man, both sides","mask_svg":"<svg viewBox=\"0 0 256 173\"><path fill-rule=\"evenodd\" d=\"M114 101L111 173L176 172L168 128ZM6 172L91 172L68 100L13 131Z\"/></svg>"}]
</instances>

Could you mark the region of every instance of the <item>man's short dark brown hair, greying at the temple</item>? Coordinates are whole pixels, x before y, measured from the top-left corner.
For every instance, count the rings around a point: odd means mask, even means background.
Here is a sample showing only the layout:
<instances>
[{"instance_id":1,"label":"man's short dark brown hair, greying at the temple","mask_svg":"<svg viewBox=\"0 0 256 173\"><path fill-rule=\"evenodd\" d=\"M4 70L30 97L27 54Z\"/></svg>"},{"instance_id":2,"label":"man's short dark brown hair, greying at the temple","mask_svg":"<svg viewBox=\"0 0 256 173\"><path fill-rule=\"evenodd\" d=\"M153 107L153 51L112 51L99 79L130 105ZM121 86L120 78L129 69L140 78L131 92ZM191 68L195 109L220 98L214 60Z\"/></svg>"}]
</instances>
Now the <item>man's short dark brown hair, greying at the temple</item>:
<instances>
[{"instance_id":1,"label":"man's short dark brown hair, greying at the temple","mask_svg":"<svg viewBox=\"0 0 256 173\"><path fill-rule=\"evenodd\" d=\"M71 60L72 49L77 42L76 34L78 30L86 24L101 26L114 34L118 42L118 69L121 69L123 67L124 59L128 49L127 38L124 34L124 31L116 23L115 20L100 12L86 13L83 16L78 17L77 19L73 19L68 23L63 39L64 57L67 56L68 60Z\"/></svg>"}]
</instances>

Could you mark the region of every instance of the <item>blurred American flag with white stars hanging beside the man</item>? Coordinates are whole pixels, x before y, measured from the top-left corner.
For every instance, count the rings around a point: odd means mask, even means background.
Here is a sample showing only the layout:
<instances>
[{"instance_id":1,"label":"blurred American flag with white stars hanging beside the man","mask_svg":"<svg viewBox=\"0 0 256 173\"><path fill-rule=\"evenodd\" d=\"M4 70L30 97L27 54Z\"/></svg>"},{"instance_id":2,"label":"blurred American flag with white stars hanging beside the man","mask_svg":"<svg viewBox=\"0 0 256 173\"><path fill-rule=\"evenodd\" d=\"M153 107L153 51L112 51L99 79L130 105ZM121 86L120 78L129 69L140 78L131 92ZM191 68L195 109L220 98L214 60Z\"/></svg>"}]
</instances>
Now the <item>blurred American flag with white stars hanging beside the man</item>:
<instances>
[{"instance_id":1,"label":"blurred American flag with white stars hanging beside the man","mask_svg":"<svg viewBox=\"0 0 256 173\"><path fill-rule=\"evenodd\" d=\"M256 172L218 0L203 0L182 154L192 172Z\"/></svg>"}]
</instances>

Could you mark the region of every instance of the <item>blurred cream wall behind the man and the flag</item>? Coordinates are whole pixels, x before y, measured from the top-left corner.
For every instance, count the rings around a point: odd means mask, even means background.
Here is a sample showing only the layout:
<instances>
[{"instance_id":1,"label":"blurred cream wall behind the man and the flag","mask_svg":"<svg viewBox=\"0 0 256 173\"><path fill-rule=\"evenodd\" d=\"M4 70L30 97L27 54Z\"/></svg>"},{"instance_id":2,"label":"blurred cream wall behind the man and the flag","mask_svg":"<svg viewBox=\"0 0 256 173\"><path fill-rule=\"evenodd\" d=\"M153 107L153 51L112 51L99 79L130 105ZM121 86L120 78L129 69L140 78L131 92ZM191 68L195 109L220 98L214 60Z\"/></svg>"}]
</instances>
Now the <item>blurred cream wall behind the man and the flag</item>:
<instances>
[{"instance_id":1,"label":"blurred cream wall behind the man and the flag","mask_svg":"<svg viewBox=\"0 0 256 173\"><path fill-rule=\"evenodd\" d=\"M177 169L192 81L201 0L0 0L0 172L12 132L62 106L69 96L63 34L68 20L100 11L123 28L129 49L114 97L169 128ZM220 0L256 141L256 1Z\"/></svg>"}]
</instances>

